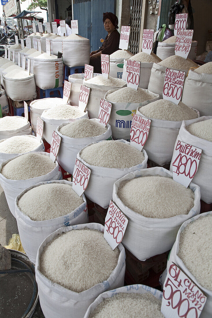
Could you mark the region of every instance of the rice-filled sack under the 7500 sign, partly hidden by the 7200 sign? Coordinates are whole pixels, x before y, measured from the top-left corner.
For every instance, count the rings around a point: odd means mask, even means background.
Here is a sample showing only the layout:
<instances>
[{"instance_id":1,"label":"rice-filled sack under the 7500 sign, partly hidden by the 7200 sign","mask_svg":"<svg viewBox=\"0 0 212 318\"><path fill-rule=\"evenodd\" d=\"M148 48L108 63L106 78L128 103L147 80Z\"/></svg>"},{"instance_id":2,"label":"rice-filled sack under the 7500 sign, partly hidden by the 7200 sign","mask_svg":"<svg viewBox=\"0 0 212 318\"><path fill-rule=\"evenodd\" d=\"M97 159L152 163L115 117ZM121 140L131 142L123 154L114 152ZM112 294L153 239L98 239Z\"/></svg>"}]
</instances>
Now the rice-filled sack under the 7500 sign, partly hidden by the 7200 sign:
<instances>
[{"instance_id":1,"label":"rice-filled sack under the 7500 sign, partly hidden by the 7200 sign","mask_svg":"<svg viewBox=\"0 0 212 318\"><path fill-rule=\"evenodd\" d=\"M139 52L136 55L134 55L133 57L131 57L130 60L141 62L139 87L140 88L148 88L153 63L158 63L161 61L161 59L157 55L155 55L154 53L147 54L145 52ZM124 68L123 68L122 79L125 81L127 79L126 67L127 67L127 60L124 59ZM158 93L156 93L156 94L158 94Z\"/></svg>"}]
</instances>

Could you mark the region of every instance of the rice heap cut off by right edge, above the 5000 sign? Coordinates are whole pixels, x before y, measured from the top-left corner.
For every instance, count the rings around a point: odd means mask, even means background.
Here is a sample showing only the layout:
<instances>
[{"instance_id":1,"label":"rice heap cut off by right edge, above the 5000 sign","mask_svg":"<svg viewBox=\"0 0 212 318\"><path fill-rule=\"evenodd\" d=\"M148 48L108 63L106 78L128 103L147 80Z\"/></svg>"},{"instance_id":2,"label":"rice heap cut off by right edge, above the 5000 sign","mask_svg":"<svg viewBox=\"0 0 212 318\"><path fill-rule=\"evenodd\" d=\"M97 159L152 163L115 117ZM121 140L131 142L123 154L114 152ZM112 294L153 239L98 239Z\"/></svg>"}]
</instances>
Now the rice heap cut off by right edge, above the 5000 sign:
<instances>
[{"instance_id":1,"label":"rice heap cut off by right edge, above the 5000 sign","mask_svg":"<svg viewBox=\"0 0 212 318\"><path fill-rule=\"evenodd\" d=\"M212 215L189 223L180 233L178 256L201 286L212 290Z\"/></svg>"}]
</instances>

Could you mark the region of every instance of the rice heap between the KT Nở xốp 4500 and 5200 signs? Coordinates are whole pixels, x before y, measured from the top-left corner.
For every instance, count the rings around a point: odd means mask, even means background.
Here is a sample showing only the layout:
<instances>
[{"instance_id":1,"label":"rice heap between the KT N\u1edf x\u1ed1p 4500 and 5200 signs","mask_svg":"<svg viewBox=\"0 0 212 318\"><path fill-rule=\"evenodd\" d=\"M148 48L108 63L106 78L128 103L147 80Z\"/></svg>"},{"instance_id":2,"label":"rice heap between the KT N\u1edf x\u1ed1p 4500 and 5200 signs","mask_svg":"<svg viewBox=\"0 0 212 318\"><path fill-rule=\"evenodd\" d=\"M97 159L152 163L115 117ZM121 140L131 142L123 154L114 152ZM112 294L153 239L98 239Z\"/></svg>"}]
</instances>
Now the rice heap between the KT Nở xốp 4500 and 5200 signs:
<instances>
[{"instance_id":1,"label":"rice heap between the KT N\u1edf x\u1ed1p 4500 and 5200 signs","mask_svg":"<svg viewBox=\"0 0 212 318\"><path fill-rule=\"evenodd\" d=\"M93 166L117 169L134 167L144 161L143 152L115 140L94 143L83 149L80 156Z\"/></svg>"}]
</instances>

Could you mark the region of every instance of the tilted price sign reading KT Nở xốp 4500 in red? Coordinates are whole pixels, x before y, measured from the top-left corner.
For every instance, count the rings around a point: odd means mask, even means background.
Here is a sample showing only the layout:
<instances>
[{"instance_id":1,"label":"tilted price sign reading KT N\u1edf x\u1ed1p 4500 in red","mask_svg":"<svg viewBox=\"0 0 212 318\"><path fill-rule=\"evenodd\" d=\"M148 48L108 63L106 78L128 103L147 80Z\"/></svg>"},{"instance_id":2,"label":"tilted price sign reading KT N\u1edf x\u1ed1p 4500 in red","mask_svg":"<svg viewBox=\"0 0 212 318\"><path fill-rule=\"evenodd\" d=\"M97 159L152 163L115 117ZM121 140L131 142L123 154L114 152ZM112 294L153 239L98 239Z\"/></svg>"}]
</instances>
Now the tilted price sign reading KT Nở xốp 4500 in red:
<instances>
[{"instance_id":1,"label":"tilted price sign reading KT N\u1edf x\u1ed1p 4500 in red","mask_svg":"<svg viewBox=\"0 0 212 318\"><path fill-rule=\"evenodd\" d=\"M86 167L80 160L76 159L73 178L72 189L81 197L82 193L88 186L90 178L90 169Z\"/></svg>"}]
</instances>

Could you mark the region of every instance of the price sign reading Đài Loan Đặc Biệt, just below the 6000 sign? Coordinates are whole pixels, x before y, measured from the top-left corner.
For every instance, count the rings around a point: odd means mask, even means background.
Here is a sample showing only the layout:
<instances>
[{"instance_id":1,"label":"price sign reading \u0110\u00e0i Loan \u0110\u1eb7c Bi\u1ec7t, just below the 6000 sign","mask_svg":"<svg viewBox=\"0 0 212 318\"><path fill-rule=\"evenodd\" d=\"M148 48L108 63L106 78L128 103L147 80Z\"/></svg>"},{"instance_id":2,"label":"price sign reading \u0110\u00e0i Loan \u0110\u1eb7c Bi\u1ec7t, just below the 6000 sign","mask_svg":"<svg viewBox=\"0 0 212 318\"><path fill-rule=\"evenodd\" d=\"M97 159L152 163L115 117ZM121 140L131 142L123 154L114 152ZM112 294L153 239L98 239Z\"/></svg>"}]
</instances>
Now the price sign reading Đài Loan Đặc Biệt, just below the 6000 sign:
<instances>
[{"instance_id":1,"label":"price sign reading \u0110\u00e0i Loan \u0110\u1eb7c Bi\u1ec7t, just below the 6000 sign","mask_svg":"<svg viewBox=\"0 0 212 318\"><path fill-rule=\"evenodd\" d=\"M177 30L177 38L174 47L175 55L187 59L191 50L193 33L194 30Z\"/></svg>"}]
</instances>

